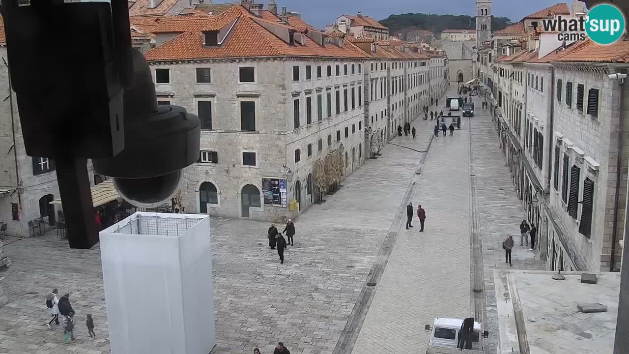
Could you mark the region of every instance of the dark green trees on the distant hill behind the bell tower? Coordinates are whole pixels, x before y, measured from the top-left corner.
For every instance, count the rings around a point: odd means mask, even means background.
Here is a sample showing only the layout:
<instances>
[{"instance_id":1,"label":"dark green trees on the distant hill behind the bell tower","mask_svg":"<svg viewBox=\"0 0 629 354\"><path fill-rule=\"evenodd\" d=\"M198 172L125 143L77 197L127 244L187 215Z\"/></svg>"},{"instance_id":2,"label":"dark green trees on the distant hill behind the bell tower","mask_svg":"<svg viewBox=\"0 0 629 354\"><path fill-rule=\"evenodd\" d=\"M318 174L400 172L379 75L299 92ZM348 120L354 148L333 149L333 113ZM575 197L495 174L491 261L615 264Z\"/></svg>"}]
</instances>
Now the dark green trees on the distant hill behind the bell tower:
<instances>
[{"instance_id":1,"label":"dark green trees on the distant hill behind the bell tower","mask_svg":"<svg viewBox=\"0 0 629 354\"><path fill-rule=\"evenodd\" d=\"M392 14L380 23L389 27L391 35L398 35L398 33L406 35L412 30L428 30L439 33L446 28L451 30L474 30L476 28L476 19L473 16L454 14ZM492 31L502 30L509 25L512 23L508 18L491 16Z\"/></svg>"}]
</instances>

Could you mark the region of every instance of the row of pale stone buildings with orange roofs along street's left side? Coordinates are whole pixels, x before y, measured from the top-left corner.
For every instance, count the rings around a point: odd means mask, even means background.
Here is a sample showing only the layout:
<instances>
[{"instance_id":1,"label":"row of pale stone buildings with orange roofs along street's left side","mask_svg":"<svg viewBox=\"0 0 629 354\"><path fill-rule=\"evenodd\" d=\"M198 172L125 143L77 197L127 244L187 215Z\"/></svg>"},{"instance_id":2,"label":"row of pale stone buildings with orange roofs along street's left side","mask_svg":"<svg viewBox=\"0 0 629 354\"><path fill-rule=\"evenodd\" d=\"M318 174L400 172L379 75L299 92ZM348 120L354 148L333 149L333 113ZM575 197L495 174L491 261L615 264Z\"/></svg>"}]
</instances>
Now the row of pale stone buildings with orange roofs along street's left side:
<instances>
[{"instance_id":1,"label":"row of pale stone buildings with orange roofs along street's left side","mask_svg":"<svg viewBox=\"0 0 629 354\"><path fill-rule=\"evenodd\" d=\"M420 74L443 77L445 59L404 42L306 31L254 7L162 20L145 56L158 102L202 121L199 161L180 186L186 211L280 222L335 191L392 127L419 115L420 93L444 87ZM324 180L318 166L331 157L341 166Z\"/></svg>"}]
</instances>

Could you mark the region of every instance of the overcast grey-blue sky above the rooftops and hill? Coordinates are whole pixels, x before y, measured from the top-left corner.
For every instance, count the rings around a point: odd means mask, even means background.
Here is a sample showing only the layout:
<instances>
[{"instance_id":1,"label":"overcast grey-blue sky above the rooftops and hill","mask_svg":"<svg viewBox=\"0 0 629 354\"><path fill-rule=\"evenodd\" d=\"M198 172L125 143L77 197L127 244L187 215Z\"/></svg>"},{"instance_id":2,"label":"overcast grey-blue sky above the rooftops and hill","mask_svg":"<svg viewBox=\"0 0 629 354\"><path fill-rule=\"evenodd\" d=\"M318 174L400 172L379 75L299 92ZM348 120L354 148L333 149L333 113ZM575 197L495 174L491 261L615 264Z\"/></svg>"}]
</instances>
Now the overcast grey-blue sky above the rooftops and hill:
<instances>
[{"instance_id":1,"label":"overcast grey-blue sky above the rooftops and hill","mask_svg":"<svg viewBox=\"0 0 629 354\"><path fill-rule=\"evenodd\" d=\"M237 0L213 0L218 3L235 3ZM257 0L264 3L269 0ZM494 16L505 16L511 21L519 21L527 14L547 8L548 6L571 0L494 0ZM435 13L435 14L467 14L476 13L475 0L276 0L277 8L286 6L290 11L297 11L302 18L316 26L332 23L340 14L355 14L362 11L376 20L383 20L390 14L403 13Z\"/></svg>"}]
</instances>

